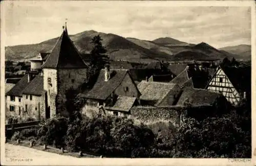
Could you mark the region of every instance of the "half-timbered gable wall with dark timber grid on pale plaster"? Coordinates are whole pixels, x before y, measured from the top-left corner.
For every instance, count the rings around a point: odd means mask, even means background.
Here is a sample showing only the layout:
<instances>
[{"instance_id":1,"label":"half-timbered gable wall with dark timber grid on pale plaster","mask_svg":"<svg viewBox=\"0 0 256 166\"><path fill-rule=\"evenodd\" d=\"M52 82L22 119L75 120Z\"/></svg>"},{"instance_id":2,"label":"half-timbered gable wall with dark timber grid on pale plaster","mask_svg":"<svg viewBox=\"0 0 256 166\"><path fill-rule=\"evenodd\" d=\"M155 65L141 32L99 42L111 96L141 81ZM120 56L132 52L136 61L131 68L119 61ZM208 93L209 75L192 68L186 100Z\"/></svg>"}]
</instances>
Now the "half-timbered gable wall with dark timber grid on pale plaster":
<instances>
[{"instance_id":1,"label":"half-timbered gable wall with dark timber grid on pale plaster","mask_svg":"<svg viewBox=\"0 0 256 166\"><path fill-rule=\"evenodd\" d=\"M222 82L220 82L222 79ZM211 79L206 89L216 92L221 92L223 96L233 105L237 105L241 100L240 94L233 87L228 77L221 68L218 69L215 76Z\"/></svg>"}]
</instances>

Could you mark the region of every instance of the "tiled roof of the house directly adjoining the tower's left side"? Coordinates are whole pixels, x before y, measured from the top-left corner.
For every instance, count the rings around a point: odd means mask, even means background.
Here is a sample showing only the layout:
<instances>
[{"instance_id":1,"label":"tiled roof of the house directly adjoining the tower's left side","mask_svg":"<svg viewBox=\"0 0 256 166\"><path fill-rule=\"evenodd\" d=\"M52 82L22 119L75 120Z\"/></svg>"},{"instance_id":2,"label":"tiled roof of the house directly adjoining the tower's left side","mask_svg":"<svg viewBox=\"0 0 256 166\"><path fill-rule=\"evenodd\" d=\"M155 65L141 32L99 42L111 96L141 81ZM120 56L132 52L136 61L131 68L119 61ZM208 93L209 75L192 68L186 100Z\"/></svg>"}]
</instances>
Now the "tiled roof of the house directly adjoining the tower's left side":
<instances>
[{"instance_id":1,"label":"tiled roof of the house directly adjoining the tower's left side","mask_svg":"<svg viewBox=\"0 0 256 166\"><path fill-rule=\"evenodd\" d=\"M32 81L29 82L28 86L24 89L24 94L33 94L40 96L44 90L44 78L39 74Z\"/></svg>"}]
</instances>

